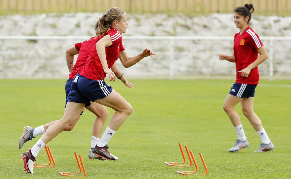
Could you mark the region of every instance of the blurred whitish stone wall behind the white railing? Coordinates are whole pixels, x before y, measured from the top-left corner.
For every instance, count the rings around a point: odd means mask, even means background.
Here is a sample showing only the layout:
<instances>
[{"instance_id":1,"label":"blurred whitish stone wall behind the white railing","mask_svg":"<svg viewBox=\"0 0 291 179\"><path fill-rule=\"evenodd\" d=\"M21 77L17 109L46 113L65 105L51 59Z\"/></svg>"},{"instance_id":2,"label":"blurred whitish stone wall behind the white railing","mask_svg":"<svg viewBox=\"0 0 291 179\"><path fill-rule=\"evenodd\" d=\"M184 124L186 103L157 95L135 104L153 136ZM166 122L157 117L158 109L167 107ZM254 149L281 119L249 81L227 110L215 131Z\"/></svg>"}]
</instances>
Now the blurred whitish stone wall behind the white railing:
<instances>
[{"instance_id":1,"label":"blurred whitish stone wall behind the white railing","mask_svg":"<svg viewBox=\"0 0 291 179\"><path fill-rule=\"evenodd\" d=\"M0 17L0 35L93 36L100 13L9 15ZM128 15L125 36L231 36L238 29L233 14L207 16ZM253 16L252 28L260 36L291 36L291 17ZM125 38L124 38L125 39ZM1 78L66 78L65 50L86 39L3 40L0 38ZM290 77L291 40L262 40L268 52L274 50L274 76ZM174 53L169 40L123 40L129 56L151 48L158 54L131 68L120 68L131 78L233 77L235 67L218 60L218 53L232 54L232 40L176 40ZM171 55L174 56L173 60ZM269 76L268 60L260 65L261 76Z\"/></svg>"}]
</instances>

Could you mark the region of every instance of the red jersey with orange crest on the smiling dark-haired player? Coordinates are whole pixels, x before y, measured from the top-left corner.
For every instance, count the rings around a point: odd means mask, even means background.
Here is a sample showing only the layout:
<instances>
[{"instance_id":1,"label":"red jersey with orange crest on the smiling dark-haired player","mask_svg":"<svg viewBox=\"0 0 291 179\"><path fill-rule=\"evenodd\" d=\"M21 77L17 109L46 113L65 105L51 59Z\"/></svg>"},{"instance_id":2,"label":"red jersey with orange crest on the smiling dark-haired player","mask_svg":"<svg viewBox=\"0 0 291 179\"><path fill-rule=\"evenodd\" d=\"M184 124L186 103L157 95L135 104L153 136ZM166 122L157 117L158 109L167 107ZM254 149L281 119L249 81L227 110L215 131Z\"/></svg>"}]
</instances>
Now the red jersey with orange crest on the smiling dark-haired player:
<instances>
[{"instance_id":1,"label":"red jersey with orange crest on the smiling dark-haired player","mask_svg":"<svg viewBox=\"0 0 291 179\"><path fill-rule=\"evenodd\" d=\"M237 70L236 83L259 84L259 70L255 67L251 70L248 77L242 77L238 71L246 68L258 58L257 49L263 46L259 36L253 29L247 27L241 35L235 34L233 50Z\"/></svg>"}]
</instances>

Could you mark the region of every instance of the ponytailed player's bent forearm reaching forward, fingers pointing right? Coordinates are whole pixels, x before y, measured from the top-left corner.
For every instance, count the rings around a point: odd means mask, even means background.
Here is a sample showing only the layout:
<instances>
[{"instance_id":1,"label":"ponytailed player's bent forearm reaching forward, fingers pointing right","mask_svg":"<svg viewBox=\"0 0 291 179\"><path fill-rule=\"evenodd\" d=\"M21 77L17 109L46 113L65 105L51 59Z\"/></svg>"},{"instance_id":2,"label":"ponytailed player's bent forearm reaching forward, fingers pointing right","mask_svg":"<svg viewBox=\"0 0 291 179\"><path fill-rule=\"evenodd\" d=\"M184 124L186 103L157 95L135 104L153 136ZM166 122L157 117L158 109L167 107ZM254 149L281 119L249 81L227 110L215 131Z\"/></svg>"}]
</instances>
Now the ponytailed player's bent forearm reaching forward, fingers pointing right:
<instances>
[{"instance_id":1,"label":"ponytailed player's bent forearm reaching forward, fingers pointing right","mask_svg":"<svg viewBox=\"0 0 291 179\"><path fill-rule=\"evenodd\" d=\"M136 64L137 62L141 61L141 59L143 59L143 57L148 57L148 56L151 56L152 55L156 55L152 52L152 50L146 48L143 50L142 53L140 53L139 55L136 55L134 57L128 57L127 53L125 50L123 51L120 51L119 53L119 59L122 63L122 65L125 67L125 68L128 68L128 67L131 67L132 65Z\"/></svg>"}]
</instances>

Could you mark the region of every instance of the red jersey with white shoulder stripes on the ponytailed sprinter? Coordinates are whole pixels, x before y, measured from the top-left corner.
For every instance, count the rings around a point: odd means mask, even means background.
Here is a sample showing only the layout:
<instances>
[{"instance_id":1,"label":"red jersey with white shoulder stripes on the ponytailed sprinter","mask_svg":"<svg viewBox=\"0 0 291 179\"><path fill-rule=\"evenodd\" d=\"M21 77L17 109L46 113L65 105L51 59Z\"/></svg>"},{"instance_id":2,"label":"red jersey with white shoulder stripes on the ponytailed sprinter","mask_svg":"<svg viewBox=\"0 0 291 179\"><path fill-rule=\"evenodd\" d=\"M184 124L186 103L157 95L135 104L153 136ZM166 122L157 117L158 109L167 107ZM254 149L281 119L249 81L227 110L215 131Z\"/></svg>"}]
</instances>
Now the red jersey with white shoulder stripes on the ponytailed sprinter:
<instances>
[{"instance_id":1,"label":"red jersey with white shoulder stripes on the ponytailed sprinter","mask_svg":"<svg viewBox=\"0 0 291 179\"><path fill-rule=\"evenodd\" d=\"M106 35L110 35L112 40L111 46L105 47L107 65L108 68L111 68L114 62L118 59L120 51L124 50L124 47L122 45L122 36L118 30L111 28L104 36ZM98 36L97 41L99 41L102 37ZM77 70L80 75L92 80L103 80L106 77L106 73L104 72L103 66L97 54L96 46L92 48L85 66Z\"/></svg>"}]
</instances>

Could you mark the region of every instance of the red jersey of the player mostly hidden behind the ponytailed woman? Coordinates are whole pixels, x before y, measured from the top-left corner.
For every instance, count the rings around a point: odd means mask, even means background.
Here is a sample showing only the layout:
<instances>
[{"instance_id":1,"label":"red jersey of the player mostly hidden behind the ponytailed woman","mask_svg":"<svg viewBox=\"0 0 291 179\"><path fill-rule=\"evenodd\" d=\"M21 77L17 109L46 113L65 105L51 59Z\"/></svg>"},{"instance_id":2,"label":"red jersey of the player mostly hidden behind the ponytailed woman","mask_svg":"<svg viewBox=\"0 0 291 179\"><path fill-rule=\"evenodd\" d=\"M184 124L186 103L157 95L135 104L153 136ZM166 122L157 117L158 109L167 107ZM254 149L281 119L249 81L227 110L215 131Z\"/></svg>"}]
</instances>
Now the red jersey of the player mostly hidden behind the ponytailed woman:
<instances>
[{"instance_id":1,"label":"red jersey of the player mostly hidden behind the ponytailed woman","mask_svg":"<svg viewBox=\"0 0 291 179\"><path fill-rule=\"evenodd\" d=\"M75 47L79 52L79 55L76 63L74 64L72 73L69 74L70 79L73 79L74 76L78 73L77 68L81 68L86 64L86 61L96 41L97 39L95 39L95 37L91 37L88 41L86 40L84 42L75 44Z\"/></svg>"}]
</instances>

